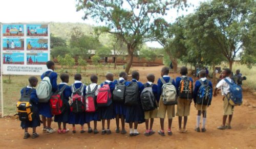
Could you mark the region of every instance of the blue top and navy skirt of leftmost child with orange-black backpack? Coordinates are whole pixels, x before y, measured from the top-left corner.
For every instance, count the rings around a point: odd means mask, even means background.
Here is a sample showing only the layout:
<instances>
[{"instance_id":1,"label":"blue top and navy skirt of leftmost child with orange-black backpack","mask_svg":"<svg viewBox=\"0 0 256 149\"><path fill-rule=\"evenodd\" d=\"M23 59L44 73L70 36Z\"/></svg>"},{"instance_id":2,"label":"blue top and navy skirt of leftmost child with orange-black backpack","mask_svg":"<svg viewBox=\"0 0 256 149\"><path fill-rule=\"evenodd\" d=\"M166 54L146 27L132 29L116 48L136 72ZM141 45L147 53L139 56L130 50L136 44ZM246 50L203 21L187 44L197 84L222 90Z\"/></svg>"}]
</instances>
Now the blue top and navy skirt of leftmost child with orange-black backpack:
<instances>
[{"instance_id":1,"label":"blue top and navy skirt of leftmost child with orange-black backpack","mask_svg":"<svg viewBox=\"0 0 256 149\"><path fill-rule=\"evenodd\" d=\"M29 86L27 86L25 88L26 88L26 93L28 93L30 91L30 89L32 89ZM24 88L22 90L20 90L21 95L23 95L23 90L24 90ZM22 127L22 129L40 126L40 117L39 117L39 112L38 112L38 107L37 107L38 98L37 98L35 89L32 89L32 92L30 93L30 104L32 106L31 110L33 112L33 120L20 122L20 127Z\"/></svg>"}]
</instances>

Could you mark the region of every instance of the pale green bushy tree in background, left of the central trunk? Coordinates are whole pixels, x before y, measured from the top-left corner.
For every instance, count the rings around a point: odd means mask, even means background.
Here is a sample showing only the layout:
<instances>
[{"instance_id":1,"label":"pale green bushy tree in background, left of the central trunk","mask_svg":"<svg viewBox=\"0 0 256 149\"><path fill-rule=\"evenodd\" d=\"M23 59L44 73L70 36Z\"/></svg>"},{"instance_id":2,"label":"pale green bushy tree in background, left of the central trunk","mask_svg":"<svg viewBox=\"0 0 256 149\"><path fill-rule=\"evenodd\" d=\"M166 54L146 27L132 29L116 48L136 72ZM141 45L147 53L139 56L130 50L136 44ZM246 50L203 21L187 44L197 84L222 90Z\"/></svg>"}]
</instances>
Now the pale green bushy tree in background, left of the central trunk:
<instances>
[{"instance_id":1,"label":"pale green bushy tree in background, left of the central trunk","mask_svg":"<svg viewBox=\"0 0 256 149\"><path fill-rule=\"evenodd\" d=\"M90 49L97 49L98 47L101 47L98 36L88 36L84 34L79 27L73 28L70 34L70 47L78 48L80 56L83 58L86 58L89 55Z\"/></svg>"}]
</instances>

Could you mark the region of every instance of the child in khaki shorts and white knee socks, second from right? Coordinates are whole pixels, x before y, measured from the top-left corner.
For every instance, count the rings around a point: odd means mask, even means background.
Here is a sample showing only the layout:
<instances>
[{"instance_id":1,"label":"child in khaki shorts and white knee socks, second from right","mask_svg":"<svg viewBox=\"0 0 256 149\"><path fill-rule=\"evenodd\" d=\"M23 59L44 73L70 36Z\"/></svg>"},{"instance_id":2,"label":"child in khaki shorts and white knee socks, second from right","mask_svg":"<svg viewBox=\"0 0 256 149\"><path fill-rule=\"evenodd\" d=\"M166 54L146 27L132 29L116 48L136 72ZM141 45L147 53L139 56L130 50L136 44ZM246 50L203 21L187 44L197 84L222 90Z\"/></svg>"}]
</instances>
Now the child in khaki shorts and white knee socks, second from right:
<instances>
[{"instance_id":1,"label":"child in khaki shorts and white knee socks, second from right","mask_svg":"<svg viewBox=\"0 0 256 149\"><path fill-rule=\"evenodd\" d=\"M194 100L194 103L195 103L195 107L198 110L197 126L196 126L195 131L200 132L200 127L199 127L200 126L200 119L201 119L201 114L203 114L203 123L202 123L201 131L205 132L206 131L206 129L205 129L206 109L207 109L207 107L209 107L210 102L208 103L208 105L197 104L197 96L198 96L198 91L199 91L202 83L207 84L210 87L211 91L212 91L212 84L211 84L211 82L209 80L207 80L207 72L206 72L206 70L201 70L199 72L199 77L200 77L200 80L196 81L194 92L193 92L193 100ZM208 91L208 96L210 98L212 97L212 94L210 93L210 91Z\"/></svg>"}]
</instances>

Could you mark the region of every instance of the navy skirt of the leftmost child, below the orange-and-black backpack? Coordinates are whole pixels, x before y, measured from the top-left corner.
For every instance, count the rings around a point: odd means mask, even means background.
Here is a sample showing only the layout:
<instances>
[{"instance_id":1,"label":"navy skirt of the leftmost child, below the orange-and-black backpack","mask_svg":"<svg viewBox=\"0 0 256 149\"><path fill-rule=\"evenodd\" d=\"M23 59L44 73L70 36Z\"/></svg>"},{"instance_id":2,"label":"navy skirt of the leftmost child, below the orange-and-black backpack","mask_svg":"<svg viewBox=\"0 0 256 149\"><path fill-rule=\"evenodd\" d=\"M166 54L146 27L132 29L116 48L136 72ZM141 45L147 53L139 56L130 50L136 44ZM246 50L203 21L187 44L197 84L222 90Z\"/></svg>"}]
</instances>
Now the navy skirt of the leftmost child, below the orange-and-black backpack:
<instances>
[{"instance_id":1,"label":"navy skirt of the leftmost child, below the orange-and-black backpack","mask_svg":"<svg viewBox=\"0 0 256 149\"><path fill-rule=\"evenodd\" d=\"M32 112L33 112L33 115L32 115L33 120L32 121L22 121L22 122L20 122L20 127L22 127L22 129L33 128L33 127L40 126L40 116L39 116L39 113L38 113L38 108L33 107Z\"/></svg>"}]
</instances>

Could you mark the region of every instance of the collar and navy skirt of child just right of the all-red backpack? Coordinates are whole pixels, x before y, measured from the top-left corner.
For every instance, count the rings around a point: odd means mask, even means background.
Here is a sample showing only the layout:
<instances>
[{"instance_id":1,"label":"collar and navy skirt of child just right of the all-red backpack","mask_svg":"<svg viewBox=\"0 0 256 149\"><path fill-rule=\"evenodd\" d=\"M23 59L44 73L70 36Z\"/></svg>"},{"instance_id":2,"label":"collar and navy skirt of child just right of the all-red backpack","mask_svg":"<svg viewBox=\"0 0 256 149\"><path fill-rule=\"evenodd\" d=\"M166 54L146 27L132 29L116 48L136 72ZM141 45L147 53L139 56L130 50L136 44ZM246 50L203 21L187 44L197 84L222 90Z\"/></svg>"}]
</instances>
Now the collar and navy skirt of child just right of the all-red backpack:
<instances>
[{"instance_id":1,"label":"collar and navy skirt of child just right of the all-red backpack","mask_svg":"<svg viewBox=\"0 0 256 149\"><path fill-rule=\"evenodd\" d=\"M124 79L119 79L119 83L124 83L125 80ZM114 81L115 84L117 84L117 80ZM125 114L126 114L126 106L124 105L124 103L117 103L117 102L113 102L113 106L114 106L114 116L116 117L116 115L123 115L125 118Z\"/></svg>"}]
</instances>

